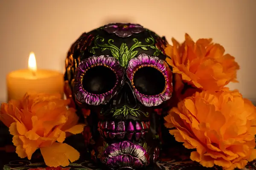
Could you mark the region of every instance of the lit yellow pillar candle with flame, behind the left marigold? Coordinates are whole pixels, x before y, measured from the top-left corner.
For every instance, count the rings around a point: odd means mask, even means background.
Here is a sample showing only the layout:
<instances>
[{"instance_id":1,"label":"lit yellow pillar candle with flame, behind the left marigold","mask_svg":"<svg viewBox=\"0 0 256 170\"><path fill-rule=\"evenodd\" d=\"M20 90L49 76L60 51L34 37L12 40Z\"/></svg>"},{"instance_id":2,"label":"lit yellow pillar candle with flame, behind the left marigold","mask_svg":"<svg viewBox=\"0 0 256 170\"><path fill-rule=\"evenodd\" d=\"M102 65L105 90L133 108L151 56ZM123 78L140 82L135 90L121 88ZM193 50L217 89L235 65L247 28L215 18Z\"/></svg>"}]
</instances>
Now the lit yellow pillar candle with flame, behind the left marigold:
<instances>
[{"instance_id":1,"label":"lit yellow pillar candle with flame, behind the left marigold","mask_svg":"<svg viewBox=\"0 0 256 170\"><path fill-rule=\"evenodd\" d=\"M28 69L12 71L6 77L8 101L21 99L26 92L61 94L63 96L63 74L58 71L37 69L35 54L29 55Z\"/></svg>"}]
</instances>

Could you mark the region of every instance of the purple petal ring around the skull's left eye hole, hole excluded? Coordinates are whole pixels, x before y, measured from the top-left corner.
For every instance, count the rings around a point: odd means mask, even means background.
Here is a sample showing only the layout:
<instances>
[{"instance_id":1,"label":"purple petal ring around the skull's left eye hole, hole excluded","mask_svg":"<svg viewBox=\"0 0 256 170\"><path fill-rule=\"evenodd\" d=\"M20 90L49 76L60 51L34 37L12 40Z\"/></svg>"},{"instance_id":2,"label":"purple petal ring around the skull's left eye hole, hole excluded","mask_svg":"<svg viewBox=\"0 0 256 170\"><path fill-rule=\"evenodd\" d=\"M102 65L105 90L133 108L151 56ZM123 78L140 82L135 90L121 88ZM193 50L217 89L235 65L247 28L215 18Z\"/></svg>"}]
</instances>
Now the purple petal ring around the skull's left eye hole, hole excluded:
<instances>
[{"instance_id":1,"label":"purple petal ring around the skull's left eye hole, hole excluded","mask_svg":"<svg viewBox=\"0 0 256 170\"><path fill-rule=\"evenodd\" d=\"M91 94L84 90L82 85L82 79L87 71L92 67L96 66L106 66L110 68L116 74L116 84L108 92L104 94ZM75 94L76 100L81 103L86 103L88 105L100 105L108 102L112 96L116 94L118 85L122 84L124 75L124 69L119 65L119 62L114 57L109 56L93 56L87 59L82 60L79 63L79 66L76 69L76 78L75 78Z\"/></svg>"}]
</instances>

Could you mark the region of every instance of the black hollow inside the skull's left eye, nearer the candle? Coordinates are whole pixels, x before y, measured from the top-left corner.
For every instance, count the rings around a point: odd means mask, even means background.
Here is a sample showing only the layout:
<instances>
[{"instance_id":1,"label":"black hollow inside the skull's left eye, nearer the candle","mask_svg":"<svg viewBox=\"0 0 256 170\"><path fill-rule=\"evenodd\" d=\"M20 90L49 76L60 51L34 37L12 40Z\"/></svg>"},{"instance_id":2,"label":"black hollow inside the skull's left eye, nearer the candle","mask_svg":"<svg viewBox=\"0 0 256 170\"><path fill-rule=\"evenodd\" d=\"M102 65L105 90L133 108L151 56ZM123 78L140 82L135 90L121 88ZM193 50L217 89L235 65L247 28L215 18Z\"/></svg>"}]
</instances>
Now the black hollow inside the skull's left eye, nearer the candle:
<instances>
[{"instance_id":1,"label":"black hollow inside the skull's left eye, nearer the candle","mask_svg":"<svg viewBox=\"0 0 256 170\"><path fill-rule=\"evenodd\" d=\"M111 91L116 81L116 74L110 68L99 65L85 72L82 85L91 94L104 94Z\"/></svg>"}]
</instances>

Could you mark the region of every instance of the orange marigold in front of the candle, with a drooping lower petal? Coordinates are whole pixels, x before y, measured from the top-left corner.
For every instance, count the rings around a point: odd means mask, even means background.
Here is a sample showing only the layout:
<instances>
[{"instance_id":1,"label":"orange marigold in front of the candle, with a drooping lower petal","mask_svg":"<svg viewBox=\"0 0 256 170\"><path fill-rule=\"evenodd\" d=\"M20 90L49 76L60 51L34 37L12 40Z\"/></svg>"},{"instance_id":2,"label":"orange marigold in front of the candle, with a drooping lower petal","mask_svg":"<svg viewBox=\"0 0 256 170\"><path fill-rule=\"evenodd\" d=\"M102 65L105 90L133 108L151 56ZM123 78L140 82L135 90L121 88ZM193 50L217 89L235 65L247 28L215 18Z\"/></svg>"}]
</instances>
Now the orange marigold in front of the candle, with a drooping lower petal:
<instances>
[{"instance_id":1,"label":"orange marigold in front of the candle, with a drooping lower petal","mask_svg":"<svg viewBox=\"0 0 256 170\"><path fill-rule=\"evenodd\" d=\"M9 127L20 158L31 159L40 148L50 167L67 166L79 159L77 150L62 143L66 132L77 134L84 128L77 125L76 110L66 107L69 102L60 95L25 94L21 100L2 103L0 120Z\"/></svg>"}]
</instances>

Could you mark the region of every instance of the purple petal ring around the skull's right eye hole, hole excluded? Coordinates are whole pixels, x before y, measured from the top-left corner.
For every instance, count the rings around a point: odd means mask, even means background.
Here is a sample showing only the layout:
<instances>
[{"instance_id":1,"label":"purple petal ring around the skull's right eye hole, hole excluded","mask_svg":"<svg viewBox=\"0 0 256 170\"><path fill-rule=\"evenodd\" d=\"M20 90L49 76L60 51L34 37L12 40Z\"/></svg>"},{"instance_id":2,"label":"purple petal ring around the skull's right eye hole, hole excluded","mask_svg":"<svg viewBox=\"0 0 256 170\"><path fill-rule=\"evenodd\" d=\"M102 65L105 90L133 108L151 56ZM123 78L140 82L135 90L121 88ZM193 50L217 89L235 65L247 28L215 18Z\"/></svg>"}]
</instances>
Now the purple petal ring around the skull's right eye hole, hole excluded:
<instances>
[{"instance_id":1,"label":"purple petal ring around the skull's right eye hole, hole excluded","mask_svg":"<svg viewBox=\"0 0 256 170\"><path fill-rule=\"evenodd\" d=\"M141 67L154 67L161 71L165 77L166 85L161 94L152 96L141 94L136 88L134 88L137 99L139 99L140 102L145 106L157 106L163 103L163 101L170 99L172 96L172 72L166 62L158 57L151 57L147 54L140 54L138 57L131 59L126 70L126 74L132 85L134 73Z\"/></svg>"}]
</instances>

